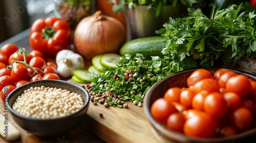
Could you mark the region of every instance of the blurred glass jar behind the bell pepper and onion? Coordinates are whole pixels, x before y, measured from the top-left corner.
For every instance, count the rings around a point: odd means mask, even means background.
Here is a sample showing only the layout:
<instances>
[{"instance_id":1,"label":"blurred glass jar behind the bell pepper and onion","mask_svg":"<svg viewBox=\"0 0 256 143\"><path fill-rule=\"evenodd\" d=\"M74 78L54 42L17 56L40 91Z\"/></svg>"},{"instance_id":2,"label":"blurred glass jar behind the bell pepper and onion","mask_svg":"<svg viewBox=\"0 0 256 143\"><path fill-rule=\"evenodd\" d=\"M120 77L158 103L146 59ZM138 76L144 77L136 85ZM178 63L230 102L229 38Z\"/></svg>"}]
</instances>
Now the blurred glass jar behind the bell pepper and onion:
<instances>
[{"instance_id":1,"label":"blurred glass jar behind the bell pepper and onion","mask_svg":"<svg viewBox=\"0 0 256 143\"><path fill-rule=\"evenodd\" d=\"M95 0L53 0L54 13L68 22L71 30L75 30L78 22L96 11Z\"/></svg>"}]
</instances>

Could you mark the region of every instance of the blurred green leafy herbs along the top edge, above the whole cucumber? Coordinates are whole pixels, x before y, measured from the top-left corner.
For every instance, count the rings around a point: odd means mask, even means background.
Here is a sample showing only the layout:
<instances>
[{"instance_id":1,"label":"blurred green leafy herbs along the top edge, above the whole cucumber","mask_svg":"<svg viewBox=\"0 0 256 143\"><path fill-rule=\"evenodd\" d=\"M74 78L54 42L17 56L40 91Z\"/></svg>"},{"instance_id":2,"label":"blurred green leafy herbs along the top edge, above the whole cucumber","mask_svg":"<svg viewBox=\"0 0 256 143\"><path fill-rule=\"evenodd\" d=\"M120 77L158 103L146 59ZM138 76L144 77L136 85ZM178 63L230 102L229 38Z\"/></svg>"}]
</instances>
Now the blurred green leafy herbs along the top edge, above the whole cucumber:
<instances>
[{"instance_id":1,"label":"blurred green leafy herbs along the top edge, above the whole cucumber","mask_svg":"<svg viewBox=\"0 0 256 143\"><path fill-rule=\"evenodd\" d=\"M116 0L108 0L108 2L114 3L113 11L121 12L125 10L125 5L129 6L129 9L136 9L137 5L147 6L148 9L155 8L156 16L161 12L162 6L182 4L187 7L197 4L199 0L120 0L119 3Z\"/></svg>"}]
</instances>

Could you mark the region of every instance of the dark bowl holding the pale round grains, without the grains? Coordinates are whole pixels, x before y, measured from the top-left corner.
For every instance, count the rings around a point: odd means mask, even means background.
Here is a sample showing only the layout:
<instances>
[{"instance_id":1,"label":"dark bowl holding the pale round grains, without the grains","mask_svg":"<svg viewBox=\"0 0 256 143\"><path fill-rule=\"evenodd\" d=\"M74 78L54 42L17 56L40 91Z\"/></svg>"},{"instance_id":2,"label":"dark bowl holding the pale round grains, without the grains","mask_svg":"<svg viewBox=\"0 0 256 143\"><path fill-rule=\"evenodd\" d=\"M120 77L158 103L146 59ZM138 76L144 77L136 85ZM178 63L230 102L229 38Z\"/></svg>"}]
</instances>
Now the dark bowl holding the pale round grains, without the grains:
<instances>
[{"instance_id":1,"label":"dark bowl holding the pale round grains, without the grains","mask_svg":"<svg viewBox=\"0 0 256 143\"><path fill-rule=\"evenodd\" d=\"M71 92L76 92L81 95L84 105L79 111L73 114L52 119L37 119L27 117L15 112L12 109L12 105L16 98L20 96L24 90L30 87L37 87L42 85L45 87L56 87L67 89ZM8 96L8 109L16 124L22 127L24 130L38 136L56 136L71 131L81 123L83 118L86 116L89 107L89 100L89 94L86 89L79 86L78 84L63 80L39 80L27 83L14 89Z\"/></svg>"}]
</instances>

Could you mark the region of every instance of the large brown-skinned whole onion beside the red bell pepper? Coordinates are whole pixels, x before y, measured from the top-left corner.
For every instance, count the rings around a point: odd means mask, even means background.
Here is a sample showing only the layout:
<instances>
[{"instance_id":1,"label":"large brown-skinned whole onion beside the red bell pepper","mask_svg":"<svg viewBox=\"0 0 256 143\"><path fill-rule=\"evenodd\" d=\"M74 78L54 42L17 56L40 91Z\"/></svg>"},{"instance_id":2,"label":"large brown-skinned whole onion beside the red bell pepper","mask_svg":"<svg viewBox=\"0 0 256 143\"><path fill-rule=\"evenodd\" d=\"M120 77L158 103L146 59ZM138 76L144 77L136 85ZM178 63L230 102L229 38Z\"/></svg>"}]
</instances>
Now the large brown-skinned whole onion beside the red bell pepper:
<instances>
[{"instance_id":1,"label":"large brown-skinned whole onion beside the red bell pepper","mask_svg":"<svg viewBox=\"0 0 256 143\"><path fill-rule=\"evenodd\" d=\"M126 39L126 30L116 18L96 11L83 18L74 33L74 44L78 53L91 60L105 53L118 53Z\"/></svg>"}]
</instances>

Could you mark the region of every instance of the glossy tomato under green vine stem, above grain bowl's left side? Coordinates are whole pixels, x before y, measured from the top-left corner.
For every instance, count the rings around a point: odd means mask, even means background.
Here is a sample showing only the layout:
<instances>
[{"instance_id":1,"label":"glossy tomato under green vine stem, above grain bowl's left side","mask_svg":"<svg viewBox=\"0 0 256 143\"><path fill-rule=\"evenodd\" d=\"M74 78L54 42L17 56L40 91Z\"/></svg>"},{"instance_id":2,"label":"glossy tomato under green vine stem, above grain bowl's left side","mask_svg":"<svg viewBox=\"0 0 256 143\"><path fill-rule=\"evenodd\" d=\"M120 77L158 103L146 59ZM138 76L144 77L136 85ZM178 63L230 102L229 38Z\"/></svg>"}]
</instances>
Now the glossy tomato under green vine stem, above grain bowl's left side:
<instances>
[{"instance_id":1,"label":"glossy tomato under green vine stem, above grain bowl's left side","mask_svg":"<svg viewBox=\"0 0 256 143\"><path fill-rule=\"evenodd\" d=\"M16 82L21 80L29 81L31 78L27 67L24 65L17 65L13 67L11 70L11 76Z\"/></svg>"}]
</instances>

